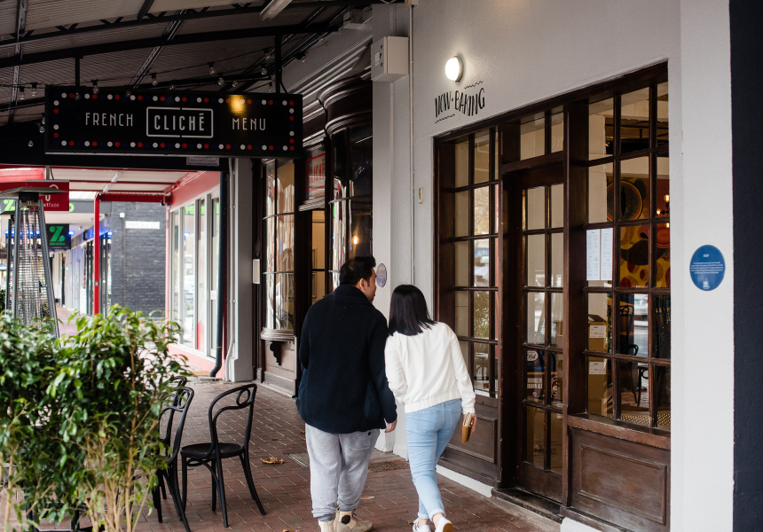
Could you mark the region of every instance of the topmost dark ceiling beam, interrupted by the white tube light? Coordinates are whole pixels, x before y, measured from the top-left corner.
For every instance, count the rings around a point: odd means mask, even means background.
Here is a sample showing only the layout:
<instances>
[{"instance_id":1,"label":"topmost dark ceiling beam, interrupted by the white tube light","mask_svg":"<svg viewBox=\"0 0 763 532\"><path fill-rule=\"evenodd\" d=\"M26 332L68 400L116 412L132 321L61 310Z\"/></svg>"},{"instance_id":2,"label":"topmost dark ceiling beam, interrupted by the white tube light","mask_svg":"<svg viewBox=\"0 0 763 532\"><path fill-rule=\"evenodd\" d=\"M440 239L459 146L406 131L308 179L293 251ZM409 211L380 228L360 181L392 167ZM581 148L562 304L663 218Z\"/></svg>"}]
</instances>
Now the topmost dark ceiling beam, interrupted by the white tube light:
<instances>
[{"instance_id":1,"label":"topmost dark ceiling beam, interrupted by the white tube light","mask_svg":"<svg viewBox=\"0 0 763 532\"><path fill-rule=\"evenodd\" d=\"M374 4L385 4L385 3L382 2L382 0L317 0L314 2L290 4L287 7L286 11L289 11L291 9L297 9L297 8L305 8L305 7L324 7L325 8L325 7L349 6L349 7L363 8L363 7L368 7L369 5L374 5ZM235 5L230 8L215 9L215 10L209 10L206 7L201 10L189 9L189 10L185 10L185 13L182 13L182 14L180 13L173 13L173 14L146 13L146 15L144 16L142 20L138 20L138 17L136 17L135 19L129 19L129 20L124 20L123 17L118 17L114 21L102 22L101 24L98 24L97 26L81 27L78 24L71 24L69 27L56 26L58 31L55 31L55 32L33 34L30 31L26 35L21 35L19 42L30 43L33 41L55 39L63 35L77 35L77 34L83 34L83 33L90 33L94 31L103 31L106 29L137 27L137 26L146 26L151 24L167 24L175 20L198 20L198 19L210 19L213 17L232 17L232 16L240 15L240 14L248 14L248 13L256 14L261 11L263 11L263 7L261 5L258 5L258 6ZM9 35L9 38L13 39L13 35ZM4 46L12 46L13 43L15 43L15 40L12 40L11 43L5 44L5 43L2 43L2 39L0 39L0 49L2 49Z\"/></svg>"}]
</instances>

